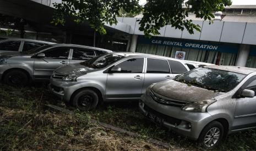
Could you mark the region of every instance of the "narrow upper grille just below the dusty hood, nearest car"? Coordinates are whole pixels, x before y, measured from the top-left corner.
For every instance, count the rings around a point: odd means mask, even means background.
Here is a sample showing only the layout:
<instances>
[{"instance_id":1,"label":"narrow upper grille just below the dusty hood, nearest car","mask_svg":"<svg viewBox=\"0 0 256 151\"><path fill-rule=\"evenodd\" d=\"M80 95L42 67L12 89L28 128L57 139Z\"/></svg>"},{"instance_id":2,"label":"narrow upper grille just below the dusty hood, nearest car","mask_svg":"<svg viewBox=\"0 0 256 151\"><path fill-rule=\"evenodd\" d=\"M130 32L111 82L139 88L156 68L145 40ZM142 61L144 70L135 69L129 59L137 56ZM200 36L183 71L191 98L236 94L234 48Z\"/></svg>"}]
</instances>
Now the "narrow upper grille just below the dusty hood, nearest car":
<instances>
[{"instance_id":1,"label":"narrow upper grille just below the dusty hood, nearest car","mask_svg":"<svg viewBox=\"0 0 256 151\"><path fill-rule=\"evenodd\" d=\"M162 97L156 96L152 90L150 91L150 96L157 103L165 104L167 106L183 107L183 106L186 106L189 103L189 102L186 102L186 101L179 101L179 100L173 100L173 99L166 100Z\"/></svg>"}]
</instances>

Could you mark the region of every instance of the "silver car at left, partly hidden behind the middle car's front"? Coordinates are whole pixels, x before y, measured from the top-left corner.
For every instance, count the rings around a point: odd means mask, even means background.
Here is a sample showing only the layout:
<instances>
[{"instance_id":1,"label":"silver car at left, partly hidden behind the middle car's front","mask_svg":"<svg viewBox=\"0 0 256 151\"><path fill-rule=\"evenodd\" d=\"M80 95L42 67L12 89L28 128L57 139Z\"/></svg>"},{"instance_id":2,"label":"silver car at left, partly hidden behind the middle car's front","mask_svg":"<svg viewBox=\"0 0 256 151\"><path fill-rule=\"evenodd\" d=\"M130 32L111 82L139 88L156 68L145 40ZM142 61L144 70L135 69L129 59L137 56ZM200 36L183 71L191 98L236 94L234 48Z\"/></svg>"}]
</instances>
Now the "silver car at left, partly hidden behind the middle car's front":
<instances>
[{"instance_id":1,"label":"silver car at left, partly hidden behind the middle car's front","mask_svg":"<svg viewBox=\"0 0 256 151\"><path fill-rule=\"evenodd\" d=\"M50 44L26 52L2 53L0 79L9 85L26 85L35 80L49 80L52 72L59 66L82 62L111 52L83 45Z\"/></svg>"}]
</instances>

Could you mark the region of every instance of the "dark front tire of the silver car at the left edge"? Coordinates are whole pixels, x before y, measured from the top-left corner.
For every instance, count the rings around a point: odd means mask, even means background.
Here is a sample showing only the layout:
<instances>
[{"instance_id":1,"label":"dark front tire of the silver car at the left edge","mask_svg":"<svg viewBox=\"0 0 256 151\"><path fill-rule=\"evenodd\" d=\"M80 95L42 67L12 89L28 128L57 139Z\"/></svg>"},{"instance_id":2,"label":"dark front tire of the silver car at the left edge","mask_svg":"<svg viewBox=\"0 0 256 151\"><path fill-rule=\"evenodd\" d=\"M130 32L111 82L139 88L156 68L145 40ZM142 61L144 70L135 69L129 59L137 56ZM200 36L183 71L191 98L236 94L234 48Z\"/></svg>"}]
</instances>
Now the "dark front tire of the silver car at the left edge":
<instances>
[{"instance_id":1,"label":"dark front tire of the silver car at the left edge","mask_svg":"<svg viewBox=\"0 0 256 151\"><path fill-rule=\"evenodd\" d=\"M4 76L3 81L12 86L26 86L29 83L29 77L24 71L13 70Z\"/></svg>"}]
</instances>

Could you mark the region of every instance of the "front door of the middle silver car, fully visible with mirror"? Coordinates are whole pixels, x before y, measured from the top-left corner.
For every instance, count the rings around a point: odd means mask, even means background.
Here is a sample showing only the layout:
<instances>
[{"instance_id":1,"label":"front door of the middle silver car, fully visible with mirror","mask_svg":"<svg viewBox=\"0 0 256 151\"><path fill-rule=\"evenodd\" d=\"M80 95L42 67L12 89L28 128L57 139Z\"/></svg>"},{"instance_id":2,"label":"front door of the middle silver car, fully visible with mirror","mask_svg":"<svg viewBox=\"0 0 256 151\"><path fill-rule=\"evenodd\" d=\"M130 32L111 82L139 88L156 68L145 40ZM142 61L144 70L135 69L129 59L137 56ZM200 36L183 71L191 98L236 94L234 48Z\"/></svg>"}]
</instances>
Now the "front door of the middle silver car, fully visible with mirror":
<instances>
[{"instance_id":1,"label":"front door of the middle silver car, fully visible with mirror","mask_svg":"<svg viewBox=\"0 0 256 151\"><path fill-rule=\"evenodd\" d=\"M139 98L144 82L144 58L124 60L112 68L121 68L121 71L108 70L106 98Z\"/></svg>"}]
</instances>

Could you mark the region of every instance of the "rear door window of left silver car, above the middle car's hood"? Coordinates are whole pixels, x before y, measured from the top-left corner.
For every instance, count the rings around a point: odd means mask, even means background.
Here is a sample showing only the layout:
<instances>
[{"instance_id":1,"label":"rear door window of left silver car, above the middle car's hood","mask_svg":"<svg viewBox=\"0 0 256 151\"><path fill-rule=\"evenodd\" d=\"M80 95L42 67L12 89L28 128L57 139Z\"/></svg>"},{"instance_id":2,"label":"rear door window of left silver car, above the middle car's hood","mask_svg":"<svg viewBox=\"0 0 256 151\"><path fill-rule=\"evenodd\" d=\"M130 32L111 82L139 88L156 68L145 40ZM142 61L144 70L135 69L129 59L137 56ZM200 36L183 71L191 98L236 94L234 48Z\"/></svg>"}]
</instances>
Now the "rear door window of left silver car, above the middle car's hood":
<instances>
[{"instance_id":1,"label":"rear door window of left silver car, above the middle car's hood","mask_svg":"<svg viewBox=\"0 0 256 151\"><path fill-rule=\"evenodd\" d=\"M85 48L73 48L73 60L89 60L95 57L94 50Z\"/></svg>"}]
</instances>

